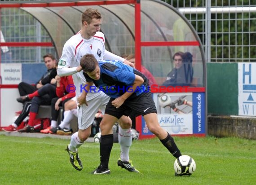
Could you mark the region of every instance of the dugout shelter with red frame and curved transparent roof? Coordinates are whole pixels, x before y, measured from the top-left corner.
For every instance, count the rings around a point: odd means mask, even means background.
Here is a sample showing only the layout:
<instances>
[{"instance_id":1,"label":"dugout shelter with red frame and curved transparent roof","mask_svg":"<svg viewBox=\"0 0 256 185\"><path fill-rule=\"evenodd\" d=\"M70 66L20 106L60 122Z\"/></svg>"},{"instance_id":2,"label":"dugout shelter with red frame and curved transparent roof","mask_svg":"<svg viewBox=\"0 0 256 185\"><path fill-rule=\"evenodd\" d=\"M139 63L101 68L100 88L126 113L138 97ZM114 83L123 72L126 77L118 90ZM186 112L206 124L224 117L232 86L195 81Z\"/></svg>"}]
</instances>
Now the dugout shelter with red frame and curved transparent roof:
<instances>
[{"instance_id":1,"label":"dugout shelter with red frame and curved transparent roof","mask_svg":"<svg viewBox=\"0 0 256 185\"><path fill-rule=\"evenodd\" d=\"M81 13L89 7L98 9L102 14L101 31L106 37L106 49L120 56L135 53L136 68L141 70L143 65L154 75L159 91L153 93L153 98L158 108L161 126L172 135L205 136L207 96L203 47L187 19L177 9L160 0L42 0L2 3L0 10L21 9L40 22L49 34L50 42L13 42L5 37L4 42L0 41L0 46L8 47L9 50L18 47L21 48L20 52L22 48L49 47L53 48L58 58L62 54L66 40L80 30ZM3 16L1 13L1 17ZM1 22L0 30L1 26L8 26L7 24ZM3 32L3 35L6 34ZM172 56L178 51L192 54L193 81L189 88L163 89L160 86L172 70ZM17 56L18 54L15 55ZM18 97L18 83L33 83L33 80L40 78L40 70L39 67L33 66L36 64L33 62L6 62L1 59L0 64L0 127L4 127L11 124L14 112L22 108L15 100ZM32 72L31 68L36 68L36 73ZM15 69L16 72L10 74L9 69ZM13 78L15 80L11 80ZM161 107L160 98L163 96L170 97L172 103L185 114L178 114L169 106ZM193 105L177 105L181 98L193 102ZM6 107L10 103L13 106ZM141 138L154 137L141 117L137 118L136 127Z\"/></svg>"}]
</instances>

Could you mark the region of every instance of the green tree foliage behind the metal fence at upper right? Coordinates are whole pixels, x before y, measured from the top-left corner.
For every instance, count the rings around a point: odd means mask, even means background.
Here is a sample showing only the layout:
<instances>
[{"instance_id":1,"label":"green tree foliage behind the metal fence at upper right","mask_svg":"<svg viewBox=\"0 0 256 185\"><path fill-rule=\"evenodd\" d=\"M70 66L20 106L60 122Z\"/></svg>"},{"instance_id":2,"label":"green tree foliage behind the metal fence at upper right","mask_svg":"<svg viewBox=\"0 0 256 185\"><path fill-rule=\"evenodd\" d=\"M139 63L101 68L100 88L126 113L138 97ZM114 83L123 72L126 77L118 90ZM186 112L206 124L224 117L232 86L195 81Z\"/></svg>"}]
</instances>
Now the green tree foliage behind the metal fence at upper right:
<instances>
[{"instance_id":1,"label":"green tree foliage behind the metal fence at upper right","mask_svg":"<svg viewBox=\"0 0 256 185\"><path fill-rule=\"evenodd\" d=\"M163 0L175 8L205 7L206 0ZM256 6L256 0L212 0L212 7ZM205 14L185 14L205 45ZM256 12L212 13L212 62L256 62ZM199 21L203 20L203 21Z\"/></svg>"}]
</instances>

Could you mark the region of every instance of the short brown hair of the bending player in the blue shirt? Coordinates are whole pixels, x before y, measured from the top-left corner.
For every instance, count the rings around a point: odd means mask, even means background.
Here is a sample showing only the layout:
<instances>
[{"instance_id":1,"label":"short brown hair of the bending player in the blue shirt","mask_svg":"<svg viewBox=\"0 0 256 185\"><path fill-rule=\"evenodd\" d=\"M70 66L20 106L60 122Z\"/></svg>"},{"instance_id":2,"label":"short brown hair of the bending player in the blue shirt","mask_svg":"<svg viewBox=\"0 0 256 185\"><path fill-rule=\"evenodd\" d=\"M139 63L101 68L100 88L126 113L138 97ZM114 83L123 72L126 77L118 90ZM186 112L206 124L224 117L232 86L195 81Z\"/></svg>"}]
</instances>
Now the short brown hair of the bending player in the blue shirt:
<instances>
[{"instance_id":1,"label":"short brown hair of the bending player in the blue shirt","mask_svg":"<svg viewBox=\"0 0 256 185\"><path fill-rule=\"evenodd\" d=\"M93 54L86 54L80 59L80 66L84 72L92 72L98 66L98 61Z\"/></svg>"}]
</instances>

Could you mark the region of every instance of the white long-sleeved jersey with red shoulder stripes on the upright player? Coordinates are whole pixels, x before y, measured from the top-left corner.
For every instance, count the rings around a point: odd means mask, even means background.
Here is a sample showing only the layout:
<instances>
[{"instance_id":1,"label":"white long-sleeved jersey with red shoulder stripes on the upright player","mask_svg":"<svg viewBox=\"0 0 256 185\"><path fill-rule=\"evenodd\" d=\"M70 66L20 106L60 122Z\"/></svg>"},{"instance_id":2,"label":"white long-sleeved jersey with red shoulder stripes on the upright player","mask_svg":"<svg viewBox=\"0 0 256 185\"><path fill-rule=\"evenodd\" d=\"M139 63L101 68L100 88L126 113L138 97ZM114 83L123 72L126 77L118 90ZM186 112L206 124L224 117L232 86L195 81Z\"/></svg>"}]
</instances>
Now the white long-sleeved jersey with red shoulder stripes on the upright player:
<instances>
[{"instance_id":1,"label":"white long-sleeved jersey with red shoulder stripes on the upright player","mask_svg":"<svg viewBox=\"0 0 256 185\"><path fill-rule=\"evenodd\" d=\"M84 86L86 83L83 72L77 72L76 67L80 66L81 57L87 53L93 54L97 60L103 60L104 58L124 61L123 58L118 57L106 50L105 36L102 32L98 31L89 40L85 40L81 36L80 31L76 35L72 36L66 41L63 47L62 56L58 62L57 72L60 76L72 75L76 87L76 97L79 97L82 93L80 91L80 85ZM101 91L99 91L99 93L88 93L86 99L93 99L94 97L99 96L101 93Z\"/></svg>"}]
</instances>

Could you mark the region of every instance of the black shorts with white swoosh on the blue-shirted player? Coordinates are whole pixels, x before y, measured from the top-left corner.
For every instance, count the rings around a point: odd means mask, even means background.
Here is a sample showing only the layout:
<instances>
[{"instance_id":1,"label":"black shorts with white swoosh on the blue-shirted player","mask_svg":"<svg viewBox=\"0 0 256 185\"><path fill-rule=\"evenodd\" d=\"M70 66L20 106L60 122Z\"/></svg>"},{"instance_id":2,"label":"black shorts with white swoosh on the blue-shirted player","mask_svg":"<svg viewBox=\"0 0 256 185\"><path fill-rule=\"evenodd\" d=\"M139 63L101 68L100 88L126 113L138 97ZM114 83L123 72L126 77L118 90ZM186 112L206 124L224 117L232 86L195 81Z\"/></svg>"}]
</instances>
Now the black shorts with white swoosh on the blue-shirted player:
<instances>
[{"instance_id":1,"label":"black shorts with white swoosh on the blue-shirted player","mask_svg":"<svg viewBox=\"0 0 256 185\"><path fill-rule=\"evenodd\" d=\"M139 115L157 113L151 92L141 93L139 96L131 99L128 98L118 109L111 103L114 100L115 98L110 98L105 114L115 116L118 119L123 115L137 117Z\"/></svg>"}]
</instances>

